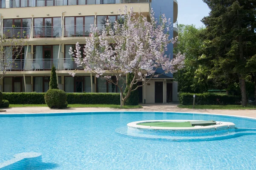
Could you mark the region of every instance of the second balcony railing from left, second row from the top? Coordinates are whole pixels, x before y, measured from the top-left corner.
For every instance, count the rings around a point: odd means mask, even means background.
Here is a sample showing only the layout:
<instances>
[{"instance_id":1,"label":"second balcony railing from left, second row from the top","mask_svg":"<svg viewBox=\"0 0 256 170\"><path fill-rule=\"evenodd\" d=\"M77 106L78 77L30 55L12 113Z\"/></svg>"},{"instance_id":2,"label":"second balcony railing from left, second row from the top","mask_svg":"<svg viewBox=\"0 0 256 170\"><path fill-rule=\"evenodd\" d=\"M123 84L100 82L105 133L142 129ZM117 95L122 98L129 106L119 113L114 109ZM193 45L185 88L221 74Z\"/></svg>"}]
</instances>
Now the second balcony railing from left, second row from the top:
<instances>
[{"instance_id":1,"label":"second balcony railing from left, second row from the top","mask_svg":"<svg viewBox=\"0 0 256 170\"><path fill-rule=\"evenodd\" d=\"M61 26L35 26L34 38L61 37Z\"/></svg>"}]
</instances>

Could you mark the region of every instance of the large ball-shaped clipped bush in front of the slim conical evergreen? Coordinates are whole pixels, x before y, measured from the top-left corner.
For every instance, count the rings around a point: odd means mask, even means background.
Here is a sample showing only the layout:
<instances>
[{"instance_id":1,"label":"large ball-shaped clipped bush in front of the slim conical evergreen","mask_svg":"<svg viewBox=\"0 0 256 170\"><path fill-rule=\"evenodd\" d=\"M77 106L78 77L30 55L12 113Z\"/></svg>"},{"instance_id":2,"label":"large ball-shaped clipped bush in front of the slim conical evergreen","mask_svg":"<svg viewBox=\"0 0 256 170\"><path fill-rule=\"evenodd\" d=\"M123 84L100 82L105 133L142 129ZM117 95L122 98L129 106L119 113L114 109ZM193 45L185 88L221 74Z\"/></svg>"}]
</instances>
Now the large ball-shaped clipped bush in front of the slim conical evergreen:
<instances>
[{"instance_id":1,"label":"large ball-shaped clipped bush in front of the slim conical evergreen","mask_svg":"<svg viewBox=\"0 0 256 170\"><path fill-rule=\"evenodd\" d=\"M45 103L49 108L67 108L67 95L59 89L49 89L44 96Z\"/></svg>"}]
</instances>

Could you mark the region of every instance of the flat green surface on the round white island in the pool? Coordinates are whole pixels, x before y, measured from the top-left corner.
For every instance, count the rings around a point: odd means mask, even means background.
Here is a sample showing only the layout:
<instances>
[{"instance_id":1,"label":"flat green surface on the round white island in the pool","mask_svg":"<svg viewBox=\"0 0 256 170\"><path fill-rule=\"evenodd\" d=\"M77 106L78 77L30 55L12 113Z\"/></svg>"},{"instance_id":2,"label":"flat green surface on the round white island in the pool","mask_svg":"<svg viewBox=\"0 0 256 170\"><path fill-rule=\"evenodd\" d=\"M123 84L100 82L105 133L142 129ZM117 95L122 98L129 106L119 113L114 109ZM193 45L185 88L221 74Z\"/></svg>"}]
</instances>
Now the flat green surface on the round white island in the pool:
<instances>
[{"instance_id":1,"label":"flat green surface on the round white island in the pool","mask_svg":"<svg viewBox=\"0 0 256 170\"><path fill-rule=\"evenodd\" d=\"M145 122L137 125L154 126L154 127L194 127L190 122Z\"/></svg>"}]
</instances>

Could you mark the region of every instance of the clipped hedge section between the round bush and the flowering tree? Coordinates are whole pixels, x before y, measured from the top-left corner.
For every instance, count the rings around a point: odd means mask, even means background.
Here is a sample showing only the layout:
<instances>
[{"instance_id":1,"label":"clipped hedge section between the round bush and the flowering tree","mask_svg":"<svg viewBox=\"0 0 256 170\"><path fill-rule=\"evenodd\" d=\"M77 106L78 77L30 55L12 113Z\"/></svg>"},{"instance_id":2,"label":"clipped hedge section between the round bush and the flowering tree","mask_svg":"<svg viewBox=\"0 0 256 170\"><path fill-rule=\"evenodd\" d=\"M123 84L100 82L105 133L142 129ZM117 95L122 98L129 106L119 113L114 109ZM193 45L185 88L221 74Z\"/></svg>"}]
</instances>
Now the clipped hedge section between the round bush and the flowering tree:
<instances>
[{"instance_id":1,"label":"clipped hedge section between the round bush and the flowering tree","mask_svg":"<svg viewBox=\"0 0 256 170\"><path fill-rule=\"evenodd\" d=\"M120 105L120 94L116 93L67 93L69 104Z\"/></svg>"}]
</instances>

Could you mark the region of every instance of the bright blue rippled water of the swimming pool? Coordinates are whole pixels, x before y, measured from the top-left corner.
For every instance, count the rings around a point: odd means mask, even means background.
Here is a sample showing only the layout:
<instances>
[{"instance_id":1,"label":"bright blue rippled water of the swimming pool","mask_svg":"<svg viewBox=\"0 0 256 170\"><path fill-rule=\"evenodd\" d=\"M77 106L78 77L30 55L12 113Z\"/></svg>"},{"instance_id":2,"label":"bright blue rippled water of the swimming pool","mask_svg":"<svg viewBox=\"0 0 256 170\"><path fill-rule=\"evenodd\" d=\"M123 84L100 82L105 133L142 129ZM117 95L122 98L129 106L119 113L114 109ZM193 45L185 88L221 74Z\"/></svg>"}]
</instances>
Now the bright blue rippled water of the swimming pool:
<instances>
[{"instance_id":1,"label":"bright blue rippled water of the swimming pool","mask_svg":"<svg viewBox=\"0 0 256 170\"><path fill-rule=\"evenodd\" d=\"M156 119L233 122L240 131L230 136L180 141L125 134L129 122ZM5 115L0 116L0 163L13 159L16 153L39 152L42 163L29 169L253 170L255 129L256 119L192 113Z\"/></svg>"}]
</instances>

